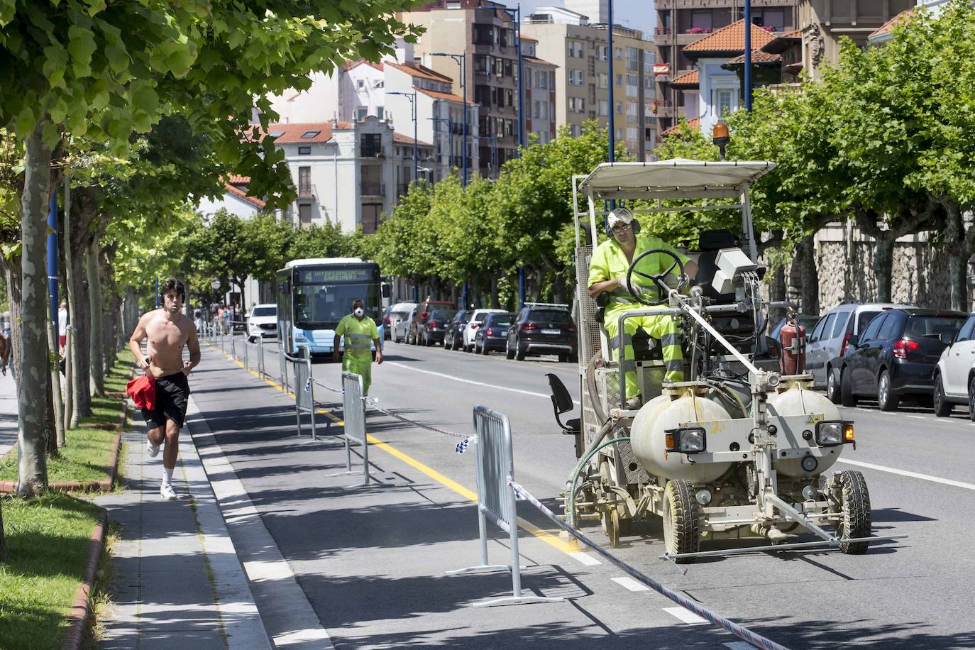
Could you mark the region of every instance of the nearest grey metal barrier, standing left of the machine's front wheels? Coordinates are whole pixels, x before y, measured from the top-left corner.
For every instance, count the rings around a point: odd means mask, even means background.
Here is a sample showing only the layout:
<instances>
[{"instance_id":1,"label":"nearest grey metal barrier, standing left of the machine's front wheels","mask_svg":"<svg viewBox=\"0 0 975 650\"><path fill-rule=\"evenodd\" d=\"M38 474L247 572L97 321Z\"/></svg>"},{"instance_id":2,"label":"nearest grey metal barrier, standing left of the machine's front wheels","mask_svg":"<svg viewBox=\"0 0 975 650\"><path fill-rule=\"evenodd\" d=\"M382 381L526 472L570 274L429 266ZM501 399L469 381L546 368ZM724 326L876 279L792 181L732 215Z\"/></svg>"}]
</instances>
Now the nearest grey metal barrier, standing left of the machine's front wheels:
<instances>
[{"instance_id":1,"label":"nearest grey metal barrier, standing left of the machine's front wheels","mask_svg":"<svg viewBox=\"0 0 975 650\"><path fill-rule=\"evenodd\" d=\"M448 575L511 571L512 595L474 603L475 607L523 602L558 602L561 597L522 594L522 567L518 552L518 513L515 494L508 481L515 475L515 461L511 447L511 423L504 413L474 407L474 448L478 481L478 531L481 543L481 564L448 571ZM511 564L487 563L487 519L508 533L511 541Z\"/></svg>"}]
</instances>

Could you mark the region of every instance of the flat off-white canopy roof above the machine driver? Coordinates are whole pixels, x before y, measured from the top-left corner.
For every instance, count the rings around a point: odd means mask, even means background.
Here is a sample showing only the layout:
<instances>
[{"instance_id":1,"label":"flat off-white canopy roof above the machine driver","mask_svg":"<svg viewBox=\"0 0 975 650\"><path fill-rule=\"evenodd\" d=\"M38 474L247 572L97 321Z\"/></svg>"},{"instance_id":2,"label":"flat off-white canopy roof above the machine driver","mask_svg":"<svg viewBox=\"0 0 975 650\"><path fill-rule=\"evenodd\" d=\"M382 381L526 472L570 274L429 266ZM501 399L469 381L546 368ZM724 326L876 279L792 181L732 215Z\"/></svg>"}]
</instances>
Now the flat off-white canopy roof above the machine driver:
<instances>
[{"instance_id":1,"label":"flat off-white canopy roof above the machine driver","mask_svg":"<svg viewBox=\"0 0 975 650\"><path fill-rule=\"evenodd\" d=\"M765 161L603 163L579 184L594 199L725 199L775 168Z\"/></svg>"}]
</instances>

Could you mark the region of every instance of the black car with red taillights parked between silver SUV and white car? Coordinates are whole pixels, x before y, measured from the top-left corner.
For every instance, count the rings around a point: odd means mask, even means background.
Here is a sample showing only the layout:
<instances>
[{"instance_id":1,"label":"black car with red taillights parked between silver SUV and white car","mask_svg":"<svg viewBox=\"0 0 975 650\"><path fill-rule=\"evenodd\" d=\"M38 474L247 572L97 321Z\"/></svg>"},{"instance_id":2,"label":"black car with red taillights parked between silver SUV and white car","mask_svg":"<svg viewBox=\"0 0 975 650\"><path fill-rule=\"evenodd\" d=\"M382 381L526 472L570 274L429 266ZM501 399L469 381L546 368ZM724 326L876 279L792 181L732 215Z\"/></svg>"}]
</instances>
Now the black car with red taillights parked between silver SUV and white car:
<instances>
[{"instance_id":1,"label":"black car with red taillights parked between silver SUV and white car","mask_svg":"<svg viewBox=\"0 0 975 650\"><path fill-rule=\"evenodd\" d=\"M876 396L880 410L890 411L904 396L930 401L934 368L967 318L918 308L881 313L848 341L839 370L842 404Z\"/></svg>"}]
</instances>

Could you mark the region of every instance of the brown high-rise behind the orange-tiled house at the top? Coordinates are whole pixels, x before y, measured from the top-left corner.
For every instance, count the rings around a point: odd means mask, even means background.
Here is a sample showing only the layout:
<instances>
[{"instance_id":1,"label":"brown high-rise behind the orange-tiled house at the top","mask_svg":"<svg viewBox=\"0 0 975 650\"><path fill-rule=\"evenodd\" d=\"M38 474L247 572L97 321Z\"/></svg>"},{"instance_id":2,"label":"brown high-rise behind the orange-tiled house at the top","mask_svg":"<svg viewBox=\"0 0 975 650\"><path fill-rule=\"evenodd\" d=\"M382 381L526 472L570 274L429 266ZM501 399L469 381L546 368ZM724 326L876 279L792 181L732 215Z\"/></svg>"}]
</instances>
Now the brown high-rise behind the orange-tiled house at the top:
<instances>
[{"instance_id":1,"label":"brown high-rise behind the orange-tiled house at the top","mask_svg":"<svg viewBox=\"0 0 975 650\"><path fill-rule=\"evenodd\" d=\"M827 4L831 2L814 1ZM681 91L690 90L687 83L693 78L695 59L684 54L684 47L700 40L704 35L743 19L744 2L656 0L655 7L657 27L654 41L657 48L657 66L654 109L658 133L662 133L677 124L677 117L685 113L683 99L688 94ZM772 34L791 32L800 24L799 0L752 0L752 22Z\"/></svg>"}]
</instances>

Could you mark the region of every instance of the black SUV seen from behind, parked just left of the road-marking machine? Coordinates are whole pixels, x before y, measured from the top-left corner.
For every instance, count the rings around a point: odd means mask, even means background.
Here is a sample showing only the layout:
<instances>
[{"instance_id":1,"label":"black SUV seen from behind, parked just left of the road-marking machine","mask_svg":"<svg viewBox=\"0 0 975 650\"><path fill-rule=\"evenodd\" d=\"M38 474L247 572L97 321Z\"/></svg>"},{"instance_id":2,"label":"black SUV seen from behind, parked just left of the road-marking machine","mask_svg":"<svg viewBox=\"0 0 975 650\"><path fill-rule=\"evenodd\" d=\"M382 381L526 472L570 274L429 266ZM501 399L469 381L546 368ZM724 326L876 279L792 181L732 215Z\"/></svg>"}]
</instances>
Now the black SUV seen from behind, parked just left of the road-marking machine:
<instances>
[{"instance_id":1,"label":"black SUV seen from behind, parked just left of the road-marking machine","mask_svg":"<svg viewBox=\"0 0 975 650\"><path fill-rule=\"evenodd\" d=\"M508 359L526 355L559 355L561 362L578 361L578 339L567 306L528 304L508 330Z\"/></svg>"}]
</instances>

